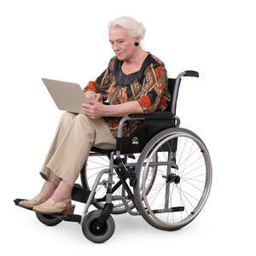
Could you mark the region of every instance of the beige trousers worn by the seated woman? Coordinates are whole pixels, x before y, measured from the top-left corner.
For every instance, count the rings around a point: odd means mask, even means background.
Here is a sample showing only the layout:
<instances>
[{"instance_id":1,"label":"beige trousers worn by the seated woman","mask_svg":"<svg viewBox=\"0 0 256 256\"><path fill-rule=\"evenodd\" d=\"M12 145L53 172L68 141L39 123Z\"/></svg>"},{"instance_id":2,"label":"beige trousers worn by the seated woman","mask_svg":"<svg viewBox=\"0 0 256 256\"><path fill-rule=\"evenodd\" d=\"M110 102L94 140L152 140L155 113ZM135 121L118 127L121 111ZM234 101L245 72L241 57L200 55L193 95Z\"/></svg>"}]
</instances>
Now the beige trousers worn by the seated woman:
<instances>
[{"instance_id":1,"label":"beige trousers worn by the seated woman","mask_svg":"<svg viewBox=\"0 0 256 256\"><path fill-rule=\"evenodd\" d=\"M61 115L40 175L56 185L62 179L73 187L90 148L110 149L115 145L116 139L104 119L90 119L83 113L65 112Z\"/></svg>"}]
</instances>

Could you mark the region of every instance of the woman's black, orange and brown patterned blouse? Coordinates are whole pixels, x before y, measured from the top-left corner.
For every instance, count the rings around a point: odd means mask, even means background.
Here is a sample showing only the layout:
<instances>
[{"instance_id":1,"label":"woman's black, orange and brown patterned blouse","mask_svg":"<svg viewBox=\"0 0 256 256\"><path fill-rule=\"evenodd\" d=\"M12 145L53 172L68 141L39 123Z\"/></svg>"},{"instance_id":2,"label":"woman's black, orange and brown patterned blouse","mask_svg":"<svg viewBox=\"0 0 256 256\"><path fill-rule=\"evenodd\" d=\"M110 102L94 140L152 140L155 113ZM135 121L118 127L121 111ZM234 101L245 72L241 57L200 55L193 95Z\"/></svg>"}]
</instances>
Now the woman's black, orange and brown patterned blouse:
<instances>
[{"instance_id":1,"label":"woman's black, orange and brown patterned blouse","mask_svg":"<svg viewBox=\"0 0 256 256\"><path fill-rule=\"evenodd\" d=\"M103 101L108 99L110 105L137 101L143 108L143 113L164 111L167 108L167 101L171 101L165 64L149 53L139 71L125 75L121 69L123 62L116 55L113 56L108 68L95 81L90 81L84 87L84 92L94 90L102 95ZM113 137L117 137L122 117L103 119L108 123ZM130 136L142 123L142 120L125 122L122 137Z\"/></svg>"}]
</instances>

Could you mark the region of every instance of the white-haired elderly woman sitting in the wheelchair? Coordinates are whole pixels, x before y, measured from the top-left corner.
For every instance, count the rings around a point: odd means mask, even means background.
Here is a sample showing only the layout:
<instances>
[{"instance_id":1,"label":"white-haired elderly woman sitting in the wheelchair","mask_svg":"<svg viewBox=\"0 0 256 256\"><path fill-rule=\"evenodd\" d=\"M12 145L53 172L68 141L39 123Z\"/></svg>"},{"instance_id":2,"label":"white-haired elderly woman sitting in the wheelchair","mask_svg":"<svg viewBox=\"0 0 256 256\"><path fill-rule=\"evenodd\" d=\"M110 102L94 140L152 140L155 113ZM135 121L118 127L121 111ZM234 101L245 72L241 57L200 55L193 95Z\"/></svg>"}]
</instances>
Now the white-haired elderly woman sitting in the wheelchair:
<instances>
[{"instance_id":1,"label":"white-haired elderly woman sitting in the wheelchair","mask_svg":"<svg viewBox=\"0 0 256 256\"><path fill-rule=\"evenodd\" d=\"M119 120L130 113L164 111L170 94L165 65L141 47L145 29L131 17L109 23L109 42L115 53L108 68L84 88L83 113L63 113L44 161L44 189L20 206L40 213L73 213L71 192L92 146L115 148ZM102 103L107 100L109 105ZM124 125L129 136L139 123Z\"/></svg>"}]
</instances>

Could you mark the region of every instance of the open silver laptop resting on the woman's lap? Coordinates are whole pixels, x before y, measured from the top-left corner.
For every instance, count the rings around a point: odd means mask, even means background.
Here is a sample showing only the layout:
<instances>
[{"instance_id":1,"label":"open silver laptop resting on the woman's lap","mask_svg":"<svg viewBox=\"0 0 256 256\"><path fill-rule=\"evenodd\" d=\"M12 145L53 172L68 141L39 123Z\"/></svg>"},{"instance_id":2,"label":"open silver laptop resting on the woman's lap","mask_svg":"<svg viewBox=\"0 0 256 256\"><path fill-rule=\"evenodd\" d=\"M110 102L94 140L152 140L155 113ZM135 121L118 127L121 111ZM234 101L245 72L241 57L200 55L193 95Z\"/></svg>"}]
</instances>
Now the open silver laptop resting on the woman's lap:
<instances>
[{"instance_id":1,"label":"open silver laptop resting on the woman's lap","mask_svg":"<svg viewBox=\"0 0 256 256\"><path fill-rule=\"evenodd\" d=\"M52 79L42 80L59 109L72 113L84 113L82 104L85 103L85 96L79 84Z\"/></svg>"}]
</instances>

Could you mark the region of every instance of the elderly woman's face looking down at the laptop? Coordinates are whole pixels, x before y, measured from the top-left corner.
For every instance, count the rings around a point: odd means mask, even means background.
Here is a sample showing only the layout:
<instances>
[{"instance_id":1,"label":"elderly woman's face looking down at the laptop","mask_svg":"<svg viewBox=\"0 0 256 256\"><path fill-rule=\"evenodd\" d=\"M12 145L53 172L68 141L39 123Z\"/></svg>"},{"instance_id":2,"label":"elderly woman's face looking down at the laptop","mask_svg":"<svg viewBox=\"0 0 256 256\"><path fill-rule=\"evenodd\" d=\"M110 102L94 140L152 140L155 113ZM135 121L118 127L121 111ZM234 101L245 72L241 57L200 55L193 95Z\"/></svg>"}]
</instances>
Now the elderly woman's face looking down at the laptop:
<instances>
[{"instance_id":1,"label":"elderly woman's face looking down at the laptop","mask_svg":"<svg viewBox=\"0 0 256 256\"><path fill-rule=\"evenodd\" d=\"M131 38L129 32L120 26L111 27L109 29L109 42L114 53L121 61L131 59L136 50L134 46L135 38Z\"/></svg>"}]
</instances>

